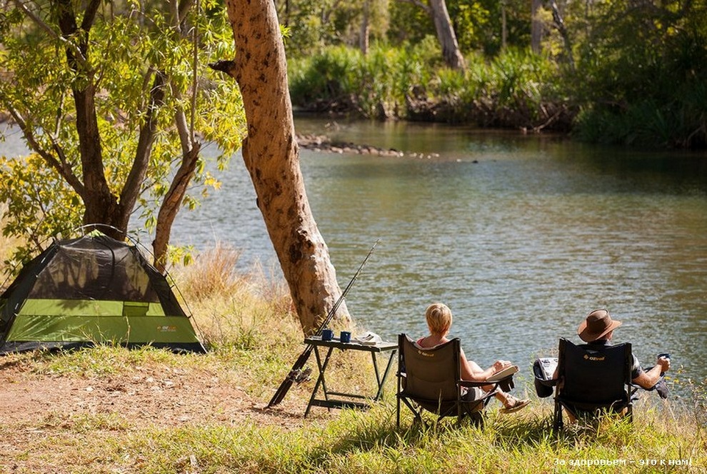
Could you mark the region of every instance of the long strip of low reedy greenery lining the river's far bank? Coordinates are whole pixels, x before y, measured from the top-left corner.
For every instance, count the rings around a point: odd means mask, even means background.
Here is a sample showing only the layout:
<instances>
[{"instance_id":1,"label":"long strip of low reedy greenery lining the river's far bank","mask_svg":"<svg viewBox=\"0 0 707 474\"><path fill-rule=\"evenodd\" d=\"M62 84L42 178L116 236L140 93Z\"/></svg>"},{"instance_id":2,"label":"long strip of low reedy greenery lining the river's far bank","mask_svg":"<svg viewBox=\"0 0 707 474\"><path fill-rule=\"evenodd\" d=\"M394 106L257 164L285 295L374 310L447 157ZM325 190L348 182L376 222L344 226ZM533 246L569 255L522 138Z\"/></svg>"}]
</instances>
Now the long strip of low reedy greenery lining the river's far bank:
<instances>
[{"instance_id":1,"label":"long strip of low reedy greenery lining the river's far bank","mask_svg":"<svg viewBox=\"0 0 707 474\"><path fill-rule=\"evenodd\" d=\"M648 44L641 43L640 49ZM594 51L574 68L507 49L493 57L470 53L466 71L455 71L441 63L429 36L416 44L375 44L366 55L328 46L290 57L290 93L295 106L309 111L556 131L638 148L704 148L707 88L702 69L690 66L701 64L704 48L688 49L694 60L671 63L649 47L651 62L657 59L650 68L638 53Z\"/></svg>"}]
</instances>

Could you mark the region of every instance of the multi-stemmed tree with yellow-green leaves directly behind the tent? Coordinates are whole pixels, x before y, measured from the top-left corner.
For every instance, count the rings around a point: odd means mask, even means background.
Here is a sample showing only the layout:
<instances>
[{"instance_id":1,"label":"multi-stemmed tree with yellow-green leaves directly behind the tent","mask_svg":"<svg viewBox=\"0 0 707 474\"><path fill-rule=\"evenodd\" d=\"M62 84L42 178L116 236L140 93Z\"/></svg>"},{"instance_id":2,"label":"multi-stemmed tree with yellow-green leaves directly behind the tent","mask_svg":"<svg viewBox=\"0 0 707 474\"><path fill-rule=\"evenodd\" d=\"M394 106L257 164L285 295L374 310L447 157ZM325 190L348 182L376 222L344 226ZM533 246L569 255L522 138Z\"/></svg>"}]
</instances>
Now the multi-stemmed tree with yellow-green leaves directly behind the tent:
<instances>
[{"instance_id":1,"label":"multi-stemmed tree with yellow-green leaves directly behind the tent","mask_svg":"<svg viewBox=\"0 0 707 474\"><path fill-rule=\"evenodd\" d=\"M190 189L218 185L202 141L222 164L244 133L238 91L206 66L230 42L219 2L0 6L0 109L33 152L0 163L3 232L39 243L101 223L122 236L141 213L164 269L177 212L198 204Z\"/></svg>"}]
</instances>

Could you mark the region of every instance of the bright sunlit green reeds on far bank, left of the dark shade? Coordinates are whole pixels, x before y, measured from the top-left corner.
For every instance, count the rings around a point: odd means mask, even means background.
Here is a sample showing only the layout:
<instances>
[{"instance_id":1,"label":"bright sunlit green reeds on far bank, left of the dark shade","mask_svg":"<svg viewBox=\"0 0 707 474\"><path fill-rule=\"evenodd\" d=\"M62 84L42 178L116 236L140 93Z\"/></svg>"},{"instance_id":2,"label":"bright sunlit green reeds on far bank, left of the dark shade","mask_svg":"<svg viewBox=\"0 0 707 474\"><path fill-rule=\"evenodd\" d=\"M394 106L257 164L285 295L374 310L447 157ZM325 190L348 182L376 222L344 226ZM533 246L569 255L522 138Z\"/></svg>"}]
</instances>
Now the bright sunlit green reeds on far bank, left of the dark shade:
<instances>
[{"instance_id":1,"label":"bright sunlit green reeds on far bank, left of the dark shade","mask_svg":"<svg viewBox=\"0 0 707 474\"><path fill-rule=\"evenodd\" d=\"M324 49L291 61L291 95L302 108L370 118L411 119L422 107L438 121L528 128L547 121L561 96L552 80L556 68L541 56L516 49L493 61L471 55L465 72L447 69L440 57L430 36L406 48L377 44L367 56L343 46Z\"/></svg>"}]
</instances>

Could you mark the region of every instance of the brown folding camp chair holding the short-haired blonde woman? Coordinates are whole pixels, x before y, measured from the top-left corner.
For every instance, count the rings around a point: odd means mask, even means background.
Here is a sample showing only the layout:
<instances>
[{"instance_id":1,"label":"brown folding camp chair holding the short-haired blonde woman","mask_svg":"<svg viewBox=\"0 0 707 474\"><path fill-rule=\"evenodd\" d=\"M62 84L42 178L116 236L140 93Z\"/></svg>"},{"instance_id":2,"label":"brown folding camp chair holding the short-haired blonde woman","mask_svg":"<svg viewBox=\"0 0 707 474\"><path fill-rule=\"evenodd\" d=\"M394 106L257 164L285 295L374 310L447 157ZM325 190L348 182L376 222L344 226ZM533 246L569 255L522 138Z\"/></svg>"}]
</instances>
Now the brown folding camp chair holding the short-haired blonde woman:
<instances>
[{"instance_id":1,"label":"brown folding camp chair holding the short-haired blonde woman","mask_svg":"<svg viewBox=\"0 0 707 474\"><path fill-rule=\"evenodd\" d=\"M499 385L510 389L513 375L495 383L468 382L461 380L461 343L458 338L431 349L421 349L405 334L398 336L398 393L396 425L400 428L401 403L415 416L415 422L423 423L426 410L438 415L457 417L457 422L468 416L475 425L483 426L483 409L491 400L493 392L478 400L464 400L463 387Z\"/></svg>"}]
</instances>

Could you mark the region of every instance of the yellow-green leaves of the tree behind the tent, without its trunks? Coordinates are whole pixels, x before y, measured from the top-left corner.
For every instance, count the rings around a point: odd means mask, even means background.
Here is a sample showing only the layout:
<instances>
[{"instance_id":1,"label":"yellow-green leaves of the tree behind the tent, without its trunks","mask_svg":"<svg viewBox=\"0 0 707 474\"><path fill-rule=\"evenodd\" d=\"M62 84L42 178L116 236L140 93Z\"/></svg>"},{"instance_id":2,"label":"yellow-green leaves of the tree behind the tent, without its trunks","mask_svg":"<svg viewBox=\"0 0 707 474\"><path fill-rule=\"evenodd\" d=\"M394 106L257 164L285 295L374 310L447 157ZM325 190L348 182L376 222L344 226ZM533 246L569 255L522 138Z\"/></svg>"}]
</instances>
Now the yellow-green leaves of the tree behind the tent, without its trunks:
<instances>
[{"instance_id":1,"label":"yellow-green leaves of the tree behind the tent, without its trunks","mask_svg":"<svg viewBox=\"0 0 707 474\"><path fill-rule=\"evenodd\" d=\"M166 78L164 98L156 103L151 157L136 208L131 210L148 228L154 228L156 211L183 154L175 126L180 111L189 121L186 125L201 139L219 146L219 166L240 146L244 115L239 92L233 81L222 80L207 66L210 61L229 56L233 49L225 14L218 2L201 1L203 10L191 16L190 34L179 35L171 26L169 13L158 9L165 8L161 4L101 4L81 59L85 64L72 69L65 51L78 51L81 38L61 36L51 8L55 4L37 2L34 15L38 21L9 8L0 21L0 43L4 46L0 52L0 74L4 76L0 106L16 111L16 117L24 121L29 148L42 158L29 158L33 174L23 173L11 159L4 160L3 171L12 177L0 182L0 198L9 203L4 233L24 236L31 231L34 244L81 224L81 208L89 195L85 194L83 201L78 198L86 183L80 182L85 163L79 151L81 124L76 123L76 91L93 94L100 141L92 146L102 157L110 192L119 202L129 198L123 193L124 186L139 154L153 78L159 71ZM195 38L199 45L196 51ZM198 56L196 63L194 54ZM192 94L195 86L196 95ZM69 175L79 182L71 181ZM44 177L50 179L45 181ZM203 158L193 181L198 186L184 198L189 208L198 205L199 192L218 186ZM20 187L13 189L9 183ZM56 192L49 193L50 183L56 186ZM20 188L32 191L30 196L38 196L40 189L46 192L39 202L19 193ZM39 225L28 226L32 219L41 219ZM24 258L30 251L29 247L21 248L16 257Z\"/></svg>"}]
</instances>

